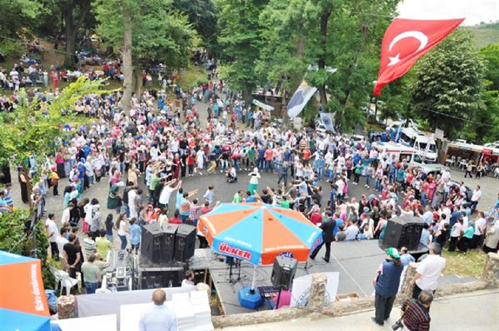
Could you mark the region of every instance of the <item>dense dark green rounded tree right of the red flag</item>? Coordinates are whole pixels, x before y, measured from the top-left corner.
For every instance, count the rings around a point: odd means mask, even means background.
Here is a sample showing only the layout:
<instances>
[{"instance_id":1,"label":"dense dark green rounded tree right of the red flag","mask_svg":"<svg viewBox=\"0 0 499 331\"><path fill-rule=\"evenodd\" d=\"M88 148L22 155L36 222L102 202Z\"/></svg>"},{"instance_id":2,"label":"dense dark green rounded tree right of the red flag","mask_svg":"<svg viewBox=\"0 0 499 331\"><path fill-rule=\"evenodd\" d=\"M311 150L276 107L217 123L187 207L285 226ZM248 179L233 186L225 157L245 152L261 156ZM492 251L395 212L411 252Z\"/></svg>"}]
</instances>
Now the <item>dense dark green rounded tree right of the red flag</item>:
<instances>
[{"instance_id":1,"label":"dense dark green rounded tree right of the red flag","mask_svg":"<svg viewBox=\"0 0 499 331\"><path fill-rule=\"evenodd\" d=\"M456 138L484 107L484 69L471 33L454 31L417 63L410 86L411 111Z\"/></svg>"}]
</instances>

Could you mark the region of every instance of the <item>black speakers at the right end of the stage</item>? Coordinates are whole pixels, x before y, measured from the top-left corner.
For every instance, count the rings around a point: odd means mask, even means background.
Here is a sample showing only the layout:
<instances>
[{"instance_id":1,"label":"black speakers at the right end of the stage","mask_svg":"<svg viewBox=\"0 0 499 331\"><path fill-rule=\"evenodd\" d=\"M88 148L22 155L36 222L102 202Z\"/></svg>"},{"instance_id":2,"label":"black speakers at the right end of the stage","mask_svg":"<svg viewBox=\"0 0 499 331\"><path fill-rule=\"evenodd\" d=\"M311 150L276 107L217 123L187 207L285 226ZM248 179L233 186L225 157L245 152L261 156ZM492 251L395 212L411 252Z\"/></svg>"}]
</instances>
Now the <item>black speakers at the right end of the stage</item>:
<instances>
[{"instance_id":1,"label":"black speakers at the right end of the stage","mask_svg":"<svg viewBox=\"0 0 499 331\"><path fill-rule=\"evenodd\" d=\"M417 250L424 223L421 217L415 216L390 219L386 225L383 246L397 249L406 246L410 251Z\"/></svg>"}]
</instances>

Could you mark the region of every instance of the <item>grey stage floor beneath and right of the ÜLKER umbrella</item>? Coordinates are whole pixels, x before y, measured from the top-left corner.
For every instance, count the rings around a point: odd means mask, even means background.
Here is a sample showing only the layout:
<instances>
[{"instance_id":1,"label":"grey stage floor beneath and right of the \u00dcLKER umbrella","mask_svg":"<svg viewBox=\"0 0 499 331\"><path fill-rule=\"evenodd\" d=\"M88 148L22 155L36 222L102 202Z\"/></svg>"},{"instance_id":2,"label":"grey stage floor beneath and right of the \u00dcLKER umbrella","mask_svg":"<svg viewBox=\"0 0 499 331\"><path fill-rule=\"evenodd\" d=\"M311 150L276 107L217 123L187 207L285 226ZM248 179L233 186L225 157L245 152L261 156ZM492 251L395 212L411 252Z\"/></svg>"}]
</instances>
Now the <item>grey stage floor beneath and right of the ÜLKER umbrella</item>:
<instances>
[{"instance_id":1,"label":"grey stage floor beneath and right of the \u00dcLKER umbrella","mask_svg":"<svg viewBox=\"0 0 499 331\"><path fill-rule=\"evenodd\" d=\"M306 270L304 262L298 263L295 277L320 272L338 272L338 294L356 292L361 297L372 294L372 280L376 276L376 270L386 256L385 252L379 248L378 240L333 242L331 243L331 258L329 263L321 259L324 256L325 250L326 248L323 246L317 254L315 261L308 260ZM241 281L230 283L229 265L214 259L210 249L197 249L189 267L195 270L207 268L210 270L210 275L222 302L225 315L255 311L241 307L238 300L238 291L246 285L251 285L253 265L243 262L241 264ZM233 267L233 273L233 280L236 280L238 276L237 267ZM271 286L271 273L271 265L258 266L256 286ZM268 306L265 303L257 310L266 309L268 309Z\"/></svg>"}]
</instances>

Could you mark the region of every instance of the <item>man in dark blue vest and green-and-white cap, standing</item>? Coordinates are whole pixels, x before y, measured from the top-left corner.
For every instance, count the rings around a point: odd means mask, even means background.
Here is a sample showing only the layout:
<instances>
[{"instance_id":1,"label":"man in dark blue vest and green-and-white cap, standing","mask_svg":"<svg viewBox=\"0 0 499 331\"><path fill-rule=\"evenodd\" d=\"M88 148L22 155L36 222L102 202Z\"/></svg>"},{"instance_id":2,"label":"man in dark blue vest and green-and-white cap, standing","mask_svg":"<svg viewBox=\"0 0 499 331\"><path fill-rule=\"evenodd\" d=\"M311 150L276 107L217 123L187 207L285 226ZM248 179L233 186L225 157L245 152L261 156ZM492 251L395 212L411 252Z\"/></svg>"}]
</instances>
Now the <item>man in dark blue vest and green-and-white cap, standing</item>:
<instances>
[{"instance_id":1,"label":"man in dark blue vest and green-and-white cap, standing","mask_svg":"<svg viewBox=\"0 0 499 331\"><path fill-rule=\"evenodd\" d=\"M383 261L377 271L378 276L374 284L376 316L371 319L378 325L383 325L385 320L390 317L393 302L399 289L400 275L404 269L396 248L388 248L386 254L388 258Z\"/></svg>"}]
</instances>

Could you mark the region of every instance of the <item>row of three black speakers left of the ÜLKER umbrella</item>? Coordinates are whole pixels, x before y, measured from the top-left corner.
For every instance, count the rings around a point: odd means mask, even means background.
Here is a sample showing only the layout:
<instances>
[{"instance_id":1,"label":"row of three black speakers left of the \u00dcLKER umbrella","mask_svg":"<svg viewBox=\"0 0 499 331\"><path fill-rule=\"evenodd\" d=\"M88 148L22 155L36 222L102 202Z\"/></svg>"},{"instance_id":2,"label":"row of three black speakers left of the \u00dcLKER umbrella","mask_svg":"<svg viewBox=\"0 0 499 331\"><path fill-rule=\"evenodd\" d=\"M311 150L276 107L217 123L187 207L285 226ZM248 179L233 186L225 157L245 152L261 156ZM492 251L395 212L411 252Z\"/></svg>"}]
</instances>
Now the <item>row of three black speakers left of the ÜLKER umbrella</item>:
<instances>
[{"instance_id":1,"label":"row of three black speakers left of the \u00dcLKER umbrella","mask_svg":"<svg viewBox=\"0 0 499 331\"><path fill-rule=\"evenodd\" d=\"M158 223L142 227L140 254L153 263L188 262L194 256L196 227Z\"/></svg>"}]
</instances>

